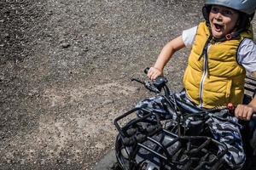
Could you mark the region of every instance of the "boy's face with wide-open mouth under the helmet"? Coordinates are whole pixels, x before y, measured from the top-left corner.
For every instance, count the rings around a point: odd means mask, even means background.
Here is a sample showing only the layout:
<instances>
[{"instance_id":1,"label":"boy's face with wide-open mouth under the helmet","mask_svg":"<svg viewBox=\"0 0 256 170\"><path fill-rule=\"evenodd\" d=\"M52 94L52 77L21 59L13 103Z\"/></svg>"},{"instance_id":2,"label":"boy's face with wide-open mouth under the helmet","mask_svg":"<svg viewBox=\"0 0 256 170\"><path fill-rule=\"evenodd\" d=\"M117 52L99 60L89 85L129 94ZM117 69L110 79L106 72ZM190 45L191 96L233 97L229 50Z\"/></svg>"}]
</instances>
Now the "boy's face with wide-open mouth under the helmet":
<instances>
[{"instance_id":1,"label":"boy's face with wide-open mouth under the helmet","mask_svg":"<svg viewBox=\"0 0 256 170\"><path fill-rule=\"evenodd\" d=\"M239 13L231 8L212 5L209 20L212 29L212 36L221 38L226 36L236 26Z\"/></svg>"}]
</instances>

